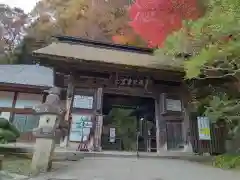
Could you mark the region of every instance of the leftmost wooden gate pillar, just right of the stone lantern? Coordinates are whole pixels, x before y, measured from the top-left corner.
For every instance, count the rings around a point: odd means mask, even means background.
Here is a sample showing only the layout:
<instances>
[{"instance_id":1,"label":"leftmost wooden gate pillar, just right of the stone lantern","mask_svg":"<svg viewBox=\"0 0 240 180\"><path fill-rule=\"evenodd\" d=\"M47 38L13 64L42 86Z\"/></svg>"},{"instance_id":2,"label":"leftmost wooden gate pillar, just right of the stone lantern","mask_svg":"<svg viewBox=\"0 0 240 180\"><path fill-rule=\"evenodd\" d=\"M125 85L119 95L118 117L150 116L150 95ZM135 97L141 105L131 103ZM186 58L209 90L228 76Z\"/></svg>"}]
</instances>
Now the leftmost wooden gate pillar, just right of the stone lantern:
<instances>
[{"instance_id":1,"label":"leftmost wooden gate pillar, just right of the stone lantern","mask_svg":"<svg viewBox=\"0 0 240 180\"><path fill-rule=\"evenodd\" d=\"M71 110L72 110L72 104L73 104L73 99L74 99L74 78L72 75L69 76L68 79L68 87L67 87L67 95L66 95L66 113L65 113L65 117L64 120L65 121L69 121L70 120L70 116L71 116ZM71 126L71 122L69 122L69 129ZM68 132L69 135L69 132ZM69 144L69 136L65 136L63 139L63 142L61 143L62 147L68 147Z\"/></svg>"}]
</instances>

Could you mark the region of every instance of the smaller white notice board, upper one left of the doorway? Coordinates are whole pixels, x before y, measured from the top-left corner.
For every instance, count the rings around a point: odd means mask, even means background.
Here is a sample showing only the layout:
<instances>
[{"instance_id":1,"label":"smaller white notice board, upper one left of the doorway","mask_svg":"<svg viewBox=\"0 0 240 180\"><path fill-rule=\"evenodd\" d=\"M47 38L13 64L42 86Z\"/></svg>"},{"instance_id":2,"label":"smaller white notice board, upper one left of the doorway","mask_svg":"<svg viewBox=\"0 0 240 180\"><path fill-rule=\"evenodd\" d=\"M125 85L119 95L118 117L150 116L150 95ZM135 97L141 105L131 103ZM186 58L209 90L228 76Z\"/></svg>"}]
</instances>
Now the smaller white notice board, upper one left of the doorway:
<instances>
[{"instance_id":1,"label":"smaller white notice board, upper one left of the doorway","mask_svg":"<svg viewBox=\"0 0 240 180\"><path fill-rule=\"evenodd\" d=\"M73 100L73 107L81 109L92 109L93 96L75 95Z\"/></svg>"}]
</instances>

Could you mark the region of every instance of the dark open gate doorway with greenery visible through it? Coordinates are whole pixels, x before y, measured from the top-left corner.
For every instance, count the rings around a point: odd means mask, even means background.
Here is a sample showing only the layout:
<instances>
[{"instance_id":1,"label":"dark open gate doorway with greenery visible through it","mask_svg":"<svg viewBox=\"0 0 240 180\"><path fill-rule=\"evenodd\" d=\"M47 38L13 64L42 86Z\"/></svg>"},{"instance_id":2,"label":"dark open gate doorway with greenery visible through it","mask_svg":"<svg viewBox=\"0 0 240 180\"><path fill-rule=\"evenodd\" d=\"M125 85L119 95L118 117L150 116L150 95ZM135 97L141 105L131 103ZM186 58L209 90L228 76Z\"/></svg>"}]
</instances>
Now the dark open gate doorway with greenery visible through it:
<instances>
[{"instance_id":1,"label":"dark open gate doorway with greenery visible through it","mask_svg":"<svg viewBox=\"0 0 240 180\"><path fill-rule=\"evenodd\" d=\"M102 149L156 151L154 110L152 98L104 94Z\"/></svg>"}]
</instances>

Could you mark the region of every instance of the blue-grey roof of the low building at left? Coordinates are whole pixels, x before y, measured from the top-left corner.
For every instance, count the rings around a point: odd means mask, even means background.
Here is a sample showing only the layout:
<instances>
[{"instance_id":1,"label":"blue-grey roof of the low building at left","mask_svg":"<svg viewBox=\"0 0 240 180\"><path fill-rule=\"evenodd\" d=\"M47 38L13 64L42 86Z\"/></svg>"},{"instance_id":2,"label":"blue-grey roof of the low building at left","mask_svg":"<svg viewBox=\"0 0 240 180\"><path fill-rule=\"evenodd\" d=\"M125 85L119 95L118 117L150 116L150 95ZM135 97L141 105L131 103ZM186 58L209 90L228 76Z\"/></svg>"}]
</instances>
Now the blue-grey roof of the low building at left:
<instances>
[{"instance_id":1,"label":"blue-grey roof of the low building at left","mask_svg":"<svg viewBox=\"0 0 240 180\"><path fill-rule=\"evenodd\" d=\"M0 65L0 83L52 87L54 72L40 65Z\"/></svg>"}]
</instances>

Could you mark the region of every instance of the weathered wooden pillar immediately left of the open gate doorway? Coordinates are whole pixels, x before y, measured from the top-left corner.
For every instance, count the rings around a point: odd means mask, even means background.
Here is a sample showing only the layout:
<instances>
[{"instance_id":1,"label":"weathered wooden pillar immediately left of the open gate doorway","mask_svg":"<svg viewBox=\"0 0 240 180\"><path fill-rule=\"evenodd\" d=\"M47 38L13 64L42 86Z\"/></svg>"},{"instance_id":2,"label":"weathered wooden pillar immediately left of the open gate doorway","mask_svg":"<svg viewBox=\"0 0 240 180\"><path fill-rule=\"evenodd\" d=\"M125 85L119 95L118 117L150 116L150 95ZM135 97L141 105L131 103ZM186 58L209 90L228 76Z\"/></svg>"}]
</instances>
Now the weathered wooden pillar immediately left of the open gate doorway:
<instances>
[{"instance_id":1,"label":"weathered wooden pillar immediately left of the open gate doorway","mask_svg":"<svg viewBox=\"0 0 240 180\"><path fill-rule=\"evenodd\" d=\"M94 150L101 151L101 137L102 137L102 102L103 102L103 88L98 88L96 93L96 123L94 133Z\"/></svg>"}]
</instances>

